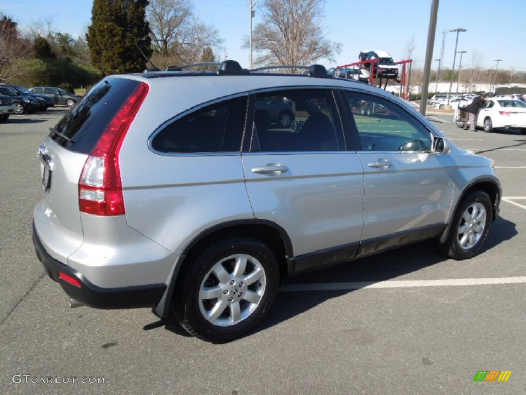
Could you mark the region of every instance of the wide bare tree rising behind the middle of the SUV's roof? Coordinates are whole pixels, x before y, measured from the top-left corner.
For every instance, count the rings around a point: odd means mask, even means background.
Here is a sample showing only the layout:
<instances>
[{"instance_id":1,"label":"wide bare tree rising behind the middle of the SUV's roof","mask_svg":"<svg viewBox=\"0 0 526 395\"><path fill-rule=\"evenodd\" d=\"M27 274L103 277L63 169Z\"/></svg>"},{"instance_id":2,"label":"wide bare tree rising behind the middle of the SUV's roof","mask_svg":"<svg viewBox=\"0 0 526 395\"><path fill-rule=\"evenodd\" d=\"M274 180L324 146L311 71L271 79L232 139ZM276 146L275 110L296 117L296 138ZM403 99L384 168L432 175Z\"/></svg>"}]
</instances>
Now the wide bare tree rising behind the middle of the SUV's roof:
<instances>
[{"instance_id":1,"label":"wide bare tree rising behind the middle of the SUV's roof","mask_svg":"<svg viewBox=\"0 0 526 395\"><path fill-rule=\"evenodd\" d=\"M333 60L341 44L331 43L321 30L323 0L265 0L263 22L252 34L258 65L310 65ZM248 46L248 43L245 44Z\"/></svg>"}]
</instances>

